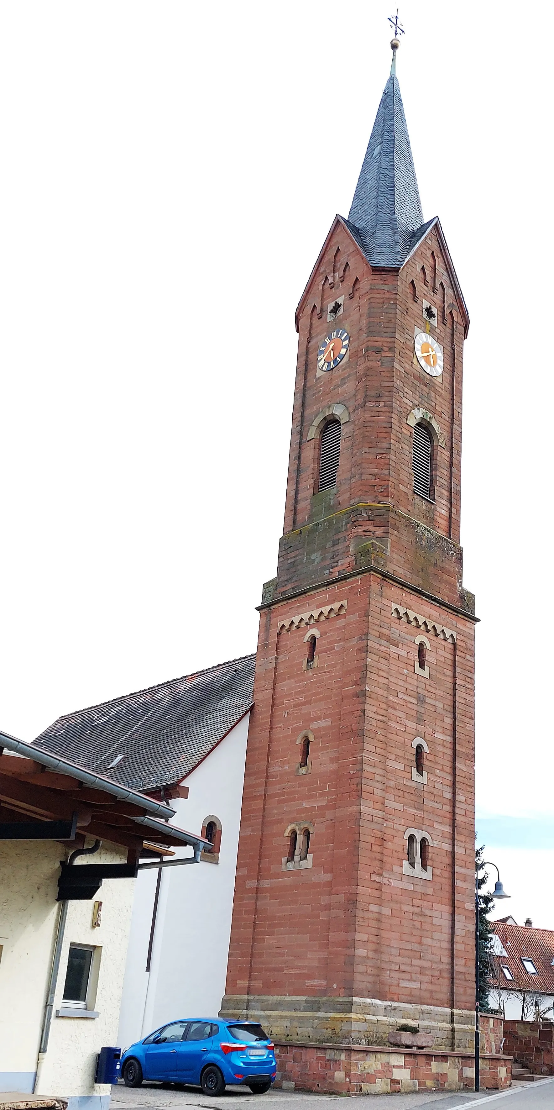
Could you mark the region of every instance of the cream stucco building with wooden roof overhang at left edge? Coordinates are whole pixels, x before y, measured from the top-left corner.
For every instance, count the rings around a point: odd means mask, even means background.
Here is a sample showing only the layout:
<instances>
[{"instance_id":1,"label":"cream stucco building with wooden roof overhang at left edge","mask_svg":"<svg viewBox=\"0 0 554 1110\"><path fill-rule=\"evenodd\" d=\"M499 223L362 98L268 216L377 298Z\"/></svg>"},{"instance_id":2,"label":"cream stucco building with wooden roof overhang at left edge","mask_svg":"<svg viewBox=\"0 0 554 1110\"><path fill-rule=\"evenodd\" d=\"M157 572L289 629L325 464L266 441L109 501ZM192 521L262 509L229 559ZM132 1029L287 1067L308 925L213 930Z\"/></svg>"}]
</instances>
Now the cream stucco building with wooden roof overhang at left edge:
<instances>
[{"instance_id":1,"label":"cream stucco building with wooden roof overhang at left edge","mask_svg":"<svg viewBox=\"0 0 554 1110\"><path fill-rule=\"evenodd\" d=\"M109 1103L97 1057L118 1043L135 877L173 846L192 862L209 847L174 816L0 734L0 1091Z\"/></svg>"}]
</instances>

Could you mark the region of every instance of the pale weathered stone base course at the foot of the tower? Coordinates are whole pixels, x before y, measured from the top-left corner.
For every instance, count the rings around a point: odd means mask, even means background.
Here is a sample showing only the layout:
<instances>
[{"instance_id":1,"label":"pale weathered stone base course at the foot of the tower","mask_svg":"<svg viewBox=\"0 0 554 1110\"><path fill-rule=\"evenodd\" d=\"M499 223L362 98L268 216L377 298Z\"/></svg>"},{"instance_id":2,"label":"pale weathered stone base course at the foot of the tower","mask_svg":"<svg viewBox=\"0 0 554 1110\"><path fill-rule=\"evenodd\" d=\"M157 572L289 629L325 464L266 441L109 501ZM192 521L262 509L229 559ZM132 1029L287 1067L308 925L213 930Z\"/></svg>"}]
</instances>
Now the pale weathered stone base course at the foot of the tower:
<instances>
[{"instance_id":1,"label":"pale weathered stone base course at the foot of the tower","mask_svg":"<svg viewBox=\"0 0 554 1110\"><path fill-rule=\"evenodd\" d=\"M376 998L226 995L221 1017L259 1021L276 1041L305 1045L387 1045L389 1033L409 1025L431 1033L437 1049L471 1052L475 1016L441 1006L382 1002Z\"/></svg>"}]
</instances>

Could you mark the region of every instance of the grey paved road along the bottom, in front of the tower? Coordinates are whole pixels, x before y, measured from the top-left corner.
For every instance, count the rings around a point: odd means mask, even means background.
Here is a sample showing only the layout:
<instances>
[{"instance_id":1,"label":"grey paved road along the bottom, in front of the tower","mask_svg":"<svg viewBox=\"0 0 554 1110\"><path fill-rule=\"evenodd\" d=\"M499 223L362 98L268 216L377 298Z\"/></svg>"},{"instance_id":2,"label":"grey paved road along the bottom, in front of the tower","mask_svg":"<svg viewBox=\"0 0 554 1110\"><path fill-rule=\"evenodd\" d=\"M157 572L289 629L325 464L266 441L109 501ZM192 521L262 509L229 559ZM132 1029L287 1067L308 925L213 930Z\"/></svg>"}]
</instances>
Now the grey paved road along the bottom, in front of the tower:
<instances>
[{"instance_id":1,"label":"grey paved road along the bottom, in front of the tower","mask_svg":"<svg viewBox=\"0 0 554 1110\"><path fill-rule=\"evenodd\" d=\"M180 1110L201 1107L202 1110L334 1110L330 1106L343 1094L306 1094L302 1091L268 1091L252 1094L244 1087L228 1087L220 1099L207 1098L193 1087L184 1090L163 1088L159 1083L143 1083L129 1088L118 1083L112 1088L111 1110ZM554 1079L538 1083L518 1084L501 1094L483 1091L474 1094L452 1091L422 1091L419 1094L359 1094L364 1110L554 1110ZM370 1101L367 1101L370 1100Z\"/></svg>"}]
</instances>

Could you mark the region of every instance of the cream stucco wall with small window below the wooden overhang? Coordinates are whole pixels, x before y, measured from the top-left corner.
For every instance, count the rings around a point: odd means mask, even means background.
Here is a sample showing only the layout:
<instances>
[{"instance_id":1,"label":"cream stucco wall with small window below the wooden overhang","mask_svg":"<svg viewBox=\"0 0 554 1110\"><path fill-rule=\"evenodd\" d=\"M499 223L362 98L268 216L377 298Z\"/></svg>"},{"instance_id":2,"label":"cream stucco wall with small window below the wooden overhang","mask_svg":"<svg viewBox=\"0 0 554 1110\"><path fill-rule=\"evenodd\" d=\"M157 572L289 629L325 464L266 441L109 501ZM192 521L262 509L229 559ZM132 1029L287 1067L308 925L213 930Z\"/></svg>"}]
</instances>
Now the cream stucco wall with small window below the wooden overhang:
<instances>
[{"instance_id":1,"label":"cream stucco wall with small window below the wooden overhang","mask_svg":"<svg viewBox=\"0 0 554 1110\"><path fill-rule=\"evenodd\" d=\"M56 902L59 860L67 857L57 842L0 842L0 1082L3 1090L32 1090L44 1013L46 995L58 924ZM104 845L90 862L123 862L127 854ZM85 866L87 857L79 860ZM71 901L54 1015L60 1008L69 946L81 942L101 949L94 1010L98 1018L52 1018L47 1053L38 1067L36 1092L66 1097L109 1096L94 1084L95 1057L104 1045L117 1045L119 1007L131 922L133 879L104 879L100 928L92 928L93 901ZM13 1073L17 1073L16 1076ZM18 1078L19 1077L19 1078Z\"/></svg>"}]
</instances>

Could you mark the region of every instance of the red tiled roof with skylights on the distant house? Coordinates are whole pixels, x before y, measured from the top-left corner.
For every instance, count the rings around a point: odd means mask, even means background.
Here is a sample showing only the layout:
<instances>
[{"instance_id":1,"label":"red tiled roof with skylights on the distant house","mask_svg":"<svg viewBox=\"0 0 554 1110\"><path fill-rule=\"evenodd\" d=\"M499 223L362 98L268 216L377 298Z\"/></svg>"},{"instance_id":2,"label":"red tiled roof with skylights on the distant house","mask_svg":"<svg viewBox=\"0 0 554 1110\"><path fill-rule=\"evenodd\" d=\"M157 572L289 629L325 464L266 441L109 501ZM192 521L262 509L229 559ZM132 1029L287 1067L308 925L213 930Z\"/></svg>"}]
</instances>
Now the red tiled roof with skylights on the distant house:
<instances>
[{"instance_id":1,"label":"red tiled roof with skylights on the distant house","mask_svg":"<svg viewBox=\"0 0 554 1110\"><path fill-rule=\"evenodd\" d=\"M506 956L494 957L495 987L504 990L526 990L554 995L554 931L533 929L525 925L506 925L492 921L493 931L498 937ZM537 975L531 975L522 963L522 957L533 960ZM510 968L513 981L505 978L502 967Z\"/></svg>"}]
</instances>

